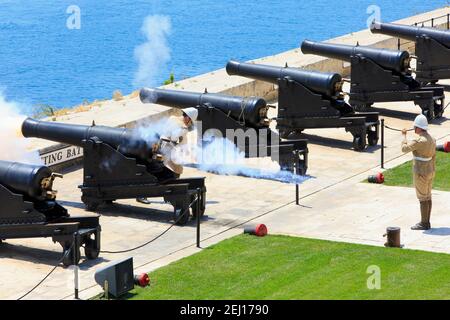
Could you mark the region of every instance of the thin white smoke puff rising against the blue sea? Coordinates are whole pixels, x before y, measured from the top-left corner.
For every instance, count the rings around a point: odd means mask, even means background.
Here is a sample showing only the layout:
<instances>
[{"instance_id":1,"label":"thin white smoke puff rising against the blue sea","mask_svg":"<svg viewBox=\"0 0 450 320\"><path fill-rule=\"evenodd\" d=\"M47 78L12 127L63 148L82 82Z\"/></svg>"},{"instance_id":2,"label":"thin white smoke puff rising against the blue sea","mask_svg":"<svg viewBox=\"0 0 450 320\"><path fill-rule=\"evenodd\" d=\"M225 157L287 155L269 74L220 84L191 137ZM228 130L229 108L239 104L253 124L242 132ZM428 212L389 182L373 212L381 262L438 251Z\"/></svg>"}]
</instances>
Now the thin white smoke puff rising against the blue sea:
<instances>
[{"instance_id":1,"label":"thin white smoke puff rising against the blue sea","mask_svg":"<svg viewBox=\"0 0 450 320\"><path fill-rule=\"evenodd\" d=\"M133 85L136 87L154 86L155 79L170 61L170 48L167 37L172 25L170 17L161 15L147 16L141 28L147 41L134 50L138 62Z\"/></svg>"}]
</instances>

